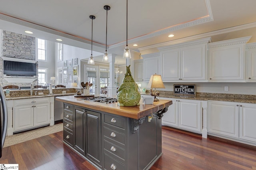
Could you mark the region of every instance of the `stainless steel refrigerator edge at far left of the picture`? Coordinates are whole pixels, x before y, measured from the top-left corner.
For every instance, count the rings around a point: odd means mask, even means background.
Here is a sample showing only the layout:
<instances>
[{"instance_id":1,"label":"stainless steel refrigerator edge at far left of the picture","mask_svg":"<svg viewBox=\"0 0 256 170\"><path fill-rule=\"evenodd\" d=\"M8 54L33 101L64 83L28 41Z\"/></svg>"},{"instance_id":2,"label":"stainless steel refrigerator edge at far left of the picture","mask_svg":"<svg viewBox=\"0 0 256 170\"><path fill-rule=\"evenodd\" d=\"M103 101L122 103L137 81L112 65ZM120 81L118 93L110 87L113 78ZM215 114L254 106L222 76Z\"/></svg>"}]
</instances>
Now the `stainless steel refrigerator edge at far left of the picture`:
<instances>
[{"instance_id":1,"label":"stainless steel refrigerator edge at far left of the picture","mask_svg":"<svg viewBox=\"0 0 256 170\"><path fill-rule=\"evenodd\" d=\"M6 137L6 130L7 130L7 104L4 96L4 90L0 85L0 158L2 157L2 149L4 147L4 140Z\"/></svg>"}]
</instances>

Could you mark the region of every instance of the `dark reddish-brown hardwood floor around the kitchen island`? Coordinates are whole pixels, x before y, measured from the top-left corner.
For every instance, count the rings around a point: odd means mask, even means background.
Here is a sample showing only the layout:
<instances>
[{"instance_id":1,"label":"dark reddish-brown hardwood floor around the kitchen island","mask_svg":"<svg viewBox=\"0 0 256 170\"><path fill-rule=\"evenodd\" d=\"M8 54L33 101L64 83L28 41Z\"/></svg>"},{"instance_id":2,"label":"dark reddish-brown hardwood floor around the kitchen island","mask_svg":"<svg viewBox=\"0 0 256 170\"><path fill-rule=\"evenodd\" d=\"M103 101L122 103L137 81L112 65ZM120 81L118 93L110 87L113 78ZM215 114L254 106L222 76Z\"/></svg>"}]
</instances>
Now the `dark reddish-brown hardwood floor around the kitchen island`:
<instances>
[{"instance_id":1,"label":"dark reddish-brown hardwood floor around the kitchen island","mask_svg":"<svg viewBox=\"0 0 256 170\"><path fill-rule=\"evenodd\" d=\"M20 170L96 170L62 143L62 131L5 147L0 164L19 164ZM162 128L163 155L150 170L256 169L256 147L202 139L200 135Z\"/></svg>"}]
</instances>

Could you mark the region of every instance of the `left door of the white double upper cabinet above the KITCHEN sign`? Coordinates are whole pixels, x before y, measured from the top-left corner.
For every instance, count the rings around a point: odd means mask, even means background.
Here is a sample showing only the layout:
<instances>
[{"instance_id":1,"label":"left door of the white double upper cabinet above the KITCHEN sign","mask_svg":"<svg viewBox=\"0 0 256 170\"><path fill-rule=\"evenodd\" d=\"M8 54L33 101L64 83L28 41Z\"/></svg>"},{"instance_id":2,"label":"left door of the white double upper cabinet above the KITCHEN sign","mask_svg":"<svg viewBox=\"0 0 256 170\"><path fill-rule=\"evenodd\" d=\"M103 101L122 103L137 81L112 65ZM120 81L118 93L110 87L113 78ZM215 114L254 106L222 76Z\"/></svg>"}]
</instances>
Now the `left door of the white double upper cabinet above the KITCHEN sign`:
<instances>
[{"instance_id":1,"label":"left door of the white double upper cabinet above the KITCHEN sign","mask_svg":"<svg viewBox=\"0 0 256 170\"><path fill-rule=\"evenodd\" d=\"M180 51L171 50L161 53L162 80L178 80L180 78Z\"/></svg>"}]
</instances>

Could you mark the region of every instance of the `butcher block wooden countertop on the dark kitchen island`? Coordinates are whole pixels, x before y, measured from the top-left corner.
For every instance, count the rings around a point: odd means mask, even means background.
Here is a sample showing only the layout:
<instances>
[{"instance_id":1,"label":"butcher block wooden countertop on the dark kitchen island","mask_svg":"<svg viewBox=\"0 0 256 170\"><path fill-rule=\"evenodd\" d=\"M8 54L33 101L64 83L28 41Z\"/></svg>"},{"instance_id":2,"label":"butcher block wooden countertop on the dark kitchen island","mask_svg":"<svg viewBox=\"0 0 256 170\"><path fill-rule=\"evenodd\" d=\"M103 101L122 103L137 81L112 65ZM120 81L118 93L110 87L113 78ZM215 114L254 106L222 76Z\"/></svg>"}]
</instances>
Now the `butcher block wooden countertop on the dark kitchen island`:
<instances>
[{"instance_id":1,"label":"butcher block wooden countertop on the dark kitchen island","mask_svg":"<svg viewBox=\"0 0 256 170\"><path fill-rule=\"evenodd\" d=\"M116 96L106 97L116 98ZM132 119L140 119L172 104L172 100L160 100L159 102L154 102L153 104L144 104L142 103L142 100L140 100L139 106L118 106L117 102L112 104L102 104L100 102L83 100L74 96L59 96L56 97L56 100L80 107L86 107L124 117L130 117Z\"/></svg>"}]
</instances>

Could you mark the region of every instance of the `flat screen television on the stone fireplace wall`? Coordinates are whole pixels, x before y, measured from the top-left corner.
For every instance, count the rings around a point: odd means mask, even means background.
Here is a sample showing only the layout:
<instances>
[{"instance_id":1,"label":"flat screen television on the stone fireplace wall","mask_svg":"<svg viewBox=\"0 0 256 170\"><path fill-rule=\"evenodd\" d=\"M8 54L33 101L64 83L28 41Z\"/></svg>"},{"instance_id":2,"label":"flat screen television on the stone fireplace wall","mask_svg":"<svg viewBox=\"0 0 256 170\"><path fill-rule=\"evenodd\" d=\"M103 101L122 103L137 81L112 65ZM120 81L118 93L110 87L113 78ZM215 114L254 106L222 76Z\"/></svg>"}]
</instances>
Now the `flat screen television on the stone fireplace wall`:
<instances>
[{"instance_id":1,"label":"flat screen television on the stone fireplace wall","mask_svg":"<svg viewBox=\"0 0 256 170\"><path fill-rule=\"evenodd\" d=\"M4 75L6 76L36 76L36 63L4 60Z\"/></svg>"}]
</instances>

